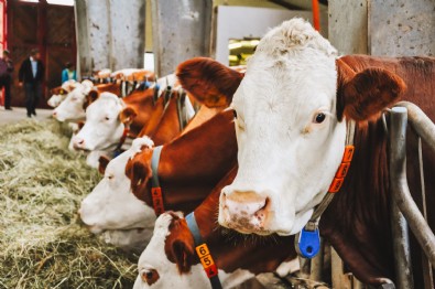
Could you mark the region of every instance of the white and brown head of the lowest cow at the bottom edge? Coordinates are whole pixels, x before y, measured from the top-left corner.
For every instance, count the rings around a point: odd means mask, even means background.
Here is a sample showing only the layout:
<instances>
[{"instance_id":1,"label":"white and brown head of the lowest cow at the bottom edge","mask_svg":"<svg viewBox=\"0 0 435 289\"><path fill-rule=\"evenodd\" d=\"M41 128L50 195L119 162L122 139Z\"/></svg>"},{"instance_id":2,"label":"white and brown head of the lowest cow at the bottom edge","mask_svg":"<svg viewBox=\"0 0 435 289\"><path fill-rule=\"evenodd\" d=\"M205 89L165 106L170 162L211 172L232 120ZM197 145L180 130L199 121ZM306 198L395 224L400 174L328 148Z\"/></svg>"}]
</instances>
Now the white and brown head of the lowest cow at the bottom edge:
<instances>
[{"instance_id":1,"label":"white and brown head of the lowest cow at the bottom edge","mask_svg":"<svg viewBox=\"0 0 435 289\"><path fill-rule=\"evenodd\" d=\"M208 288L203 267L194 260L194 238L182 214L164 213L139 259L133 288Z\"/></svg>"}]
</instances>

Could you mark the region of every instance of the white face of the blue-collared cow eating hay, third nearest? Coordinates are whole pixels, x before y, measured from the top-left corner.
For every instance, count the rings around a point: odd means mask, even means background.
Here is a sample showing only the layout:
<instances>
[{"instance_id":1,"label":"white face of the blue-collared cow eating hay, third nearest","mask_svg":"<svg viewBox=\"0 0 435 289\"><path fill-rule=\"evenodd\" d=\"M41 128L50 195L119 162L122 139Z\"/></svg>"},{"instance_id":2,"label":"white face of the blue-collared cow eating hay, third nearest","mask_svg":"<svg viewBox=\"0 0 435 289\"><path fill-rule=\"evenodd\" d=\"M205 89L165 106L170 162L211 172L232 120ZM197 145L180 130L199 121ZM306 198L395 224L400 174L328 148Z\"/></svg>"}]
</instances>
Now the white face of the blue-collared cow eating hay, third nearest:
<instances>
[{"instance_id":1,"label":"white face of the blue-collared cow eating hay, third nearest","mask_svg":"<svg viewBox=\"0 0 435 289\"><path fill-rule=\"evenodd\" d=\"M131 193L130 180L126 176L128 160L142 147L151 146L149 138L135 139L129 150L109 162L104 179L83 200L79 215L93 233L153 227L154 211Z\"/></svg>"}]
</instances>

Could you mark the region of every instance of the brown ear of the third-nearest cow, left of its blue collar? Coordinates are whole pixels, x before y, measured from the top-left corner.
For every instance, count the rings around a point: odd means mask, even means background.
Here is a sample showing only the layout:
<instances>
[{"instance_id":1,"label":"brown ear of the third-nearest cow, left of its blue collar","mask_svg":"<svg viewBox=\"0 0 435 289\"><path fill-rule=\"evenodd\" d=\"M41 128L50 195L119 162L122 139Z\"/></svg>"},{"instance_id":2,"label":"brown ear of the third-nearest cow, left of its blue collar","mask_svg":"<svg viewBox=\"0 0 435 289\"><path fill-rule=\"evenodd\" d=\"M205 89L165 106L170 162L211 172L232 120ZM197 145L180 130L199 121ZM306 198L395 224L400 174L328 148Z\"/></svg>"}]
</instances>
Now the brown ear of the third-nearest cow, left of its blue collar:
<instances>
[{"instance_id":1,"label":"brown ear of the third-nearest cow, left of its blue collar","mask_svg":"<svg viewBox=\"0 0 435 289\"><path fill-rule=\"evenodd\" d=\"M143 148L142 152L137 154L132 160L129 160L126 165L126 175L131 181L131 191L140 200L148 197L141 195L141 192L148 184L149 179L152 176L152 149Z\"/></svg>"}]
</instances>

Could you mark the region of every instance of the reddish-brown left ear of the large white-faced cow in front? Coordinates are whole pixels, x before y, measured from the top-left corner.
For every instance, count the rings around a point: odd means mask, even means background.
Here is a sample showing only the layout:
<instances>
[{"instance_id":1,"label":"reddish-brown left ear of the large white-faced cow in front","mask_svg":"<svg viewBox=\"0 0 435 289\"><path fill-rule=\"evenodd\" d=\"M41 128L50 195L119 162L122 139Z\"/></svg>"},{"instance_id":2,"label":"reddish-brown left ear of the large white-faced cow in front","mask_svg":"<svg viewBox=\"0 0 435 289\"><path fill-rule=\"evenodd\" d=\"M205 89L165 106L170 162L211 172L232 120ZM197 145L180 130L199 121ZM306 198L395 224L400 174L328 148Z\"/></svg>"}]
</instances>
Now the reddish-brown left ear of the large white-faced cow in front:
<instances>
[{"instance_id":1,"label":"reddish-brown left ear of the large white-faced cow in front","mask_svg":"<svg viewBox=\"0 0 435 289\"><path fill-rule=\"evenodd\" d=\"M228 106L243 78L242 73L206 57L183 62L176 76L183 88L207 107Z\"/></svg>"}]
</instances>

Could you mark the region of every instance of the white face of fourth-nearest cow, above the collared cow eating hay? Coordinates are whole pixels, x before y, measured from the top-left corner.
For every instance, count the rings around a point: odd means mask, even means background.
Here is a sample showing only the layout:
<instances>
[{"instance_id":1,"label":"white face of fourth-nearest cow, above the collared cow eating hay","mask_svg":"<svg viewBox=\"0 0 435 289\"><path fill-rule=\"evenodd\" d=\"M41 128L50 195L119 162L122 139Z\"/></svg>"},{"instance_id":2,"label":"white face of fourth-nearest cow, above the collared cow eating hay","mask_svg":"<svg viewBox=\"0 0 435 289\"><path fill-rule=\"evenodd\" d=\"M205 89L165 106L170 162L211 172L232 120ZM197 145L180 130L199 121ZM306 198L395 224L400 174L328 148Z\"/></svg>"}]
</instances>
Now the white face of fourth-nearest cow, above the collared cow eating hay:
<instances>
[{"instance_id":1,"label":"white face of fourth-nearest cow, above the collared cow eating hay","mask_svg":"<svg viewBox=\"0 0 435 289\"><path fill-rule=\"evenodd\" d=\"M86 122L77 136L74 137L74 148L81 150L104 150L119 143L124 125L120 113L124 109L121 99L111 93L101 93L97 100L86 109ZM129 110L130 111L130 110ZM131 119L135 116L131 111Z\"/></svg>"}]
</instances>

